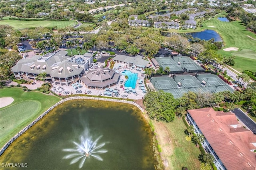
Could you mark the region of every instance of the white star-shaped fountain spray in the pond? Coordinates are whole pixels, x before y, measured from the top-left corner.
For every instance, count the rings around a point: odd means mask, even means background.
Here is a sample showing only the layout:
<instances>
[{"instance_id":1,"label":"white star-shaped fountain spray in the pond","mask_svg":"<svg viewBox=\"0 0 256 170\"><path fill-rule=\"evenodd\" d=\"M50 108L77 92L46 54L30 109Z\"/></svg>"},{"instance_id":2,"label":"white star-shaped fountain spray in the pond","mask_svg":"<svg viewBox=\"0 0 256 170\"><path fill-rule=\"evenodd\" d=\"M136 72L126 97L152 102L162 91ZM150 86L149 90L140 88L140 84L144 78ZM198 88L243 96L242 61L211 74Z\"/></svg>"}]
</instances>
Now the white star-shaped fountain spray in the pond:
<instances>
[{"instance_id":1,"label":"white star-shaped fountain spray in the pond","mask_svg":"<svg viewBox=\"0 0 256 170\"><path fill-rule=\"evenodd\" d=\"M106 143L100 143L98 145L98 141L101 137L102 136L93 141L92 136L90 136L89 131L86 129L84 131L84 135L81 135L80 137L80 144L73 141L73 143L76 145L75 149L63 149L65 152L73 152L64 156L63 159L72 159L70 165L75 164L80 160L79 168L84 166L86 158L90 158L90 156L102 161L103 159L98 154L106 153L108 150L101 149L106 145Z\"/></svg>"}]
</instances>

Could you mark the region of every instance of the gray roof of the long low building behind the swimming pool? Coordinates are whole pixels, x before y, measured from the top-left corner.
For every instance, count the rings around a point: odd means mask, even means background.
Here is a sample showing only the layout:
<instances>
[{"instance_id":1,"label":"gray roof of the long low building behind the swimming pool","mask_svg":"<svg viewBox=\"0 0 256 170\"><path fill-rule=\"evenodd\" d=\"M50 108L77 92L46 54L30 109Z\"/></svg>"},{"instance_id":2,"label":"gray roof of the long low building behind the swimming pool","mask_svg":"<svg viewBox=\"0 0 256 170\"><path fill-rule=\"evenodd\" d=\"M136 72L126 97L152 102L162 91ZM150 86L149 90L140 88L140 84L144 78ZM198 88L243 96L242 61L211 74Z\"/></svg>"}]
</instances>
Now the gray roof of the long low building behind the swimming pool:
<instances>
[{"instance_id":1,"label":"gray roof of the long low building behind the swimming pool","mask_svg":"<svg viewBox=\"0 0 256 170\"><path fill-rule=\"evenodd\" d=\"M130 57L127 55L117 55L116 57L114 57L112 60L116 60L116 61L122 61L125 63L133 63L135 66L141 67L141 68L145 68L146 65L149 63L148 61L138 58L138 57Z\"/></svg>"}]
</instances>

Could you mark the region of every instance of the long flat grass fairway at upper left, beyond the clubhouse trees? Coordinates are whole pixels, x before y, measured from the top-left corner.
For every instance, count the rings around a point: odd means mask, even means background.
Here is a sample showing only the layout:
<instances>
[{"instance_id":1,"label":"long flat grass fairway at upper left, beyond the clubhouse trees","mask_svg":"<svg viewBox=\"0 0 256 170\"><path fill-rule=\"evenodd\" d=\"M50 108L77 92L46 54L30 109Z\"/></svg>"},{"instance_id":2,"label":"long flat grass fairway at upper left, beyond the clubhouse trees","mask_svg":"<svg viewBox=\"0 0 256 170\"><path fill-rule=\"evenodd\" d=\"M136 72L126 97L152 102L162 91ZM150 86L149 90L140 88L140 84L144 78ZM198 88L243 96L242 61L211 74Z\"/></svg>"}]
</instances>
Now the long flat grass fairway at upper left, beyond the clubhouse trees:
<instances>
[{"instance_id":1,"label":"long flat grass fairway at upper left, beyond the clubhouse trees","mask_svg":"<svg viewBox=\"0 0 256 170\"><path fill-rule=\"evenodd\" d=\"M64 28L67 26L76 25L76 21L19 21L19 20L8 20L9 17L4 17L2 21L0 21L0 25L10 25L14 27L14 29L22 29L22 28L30 28L30 27L54 27Z\"/></svg>"}]
</instances>

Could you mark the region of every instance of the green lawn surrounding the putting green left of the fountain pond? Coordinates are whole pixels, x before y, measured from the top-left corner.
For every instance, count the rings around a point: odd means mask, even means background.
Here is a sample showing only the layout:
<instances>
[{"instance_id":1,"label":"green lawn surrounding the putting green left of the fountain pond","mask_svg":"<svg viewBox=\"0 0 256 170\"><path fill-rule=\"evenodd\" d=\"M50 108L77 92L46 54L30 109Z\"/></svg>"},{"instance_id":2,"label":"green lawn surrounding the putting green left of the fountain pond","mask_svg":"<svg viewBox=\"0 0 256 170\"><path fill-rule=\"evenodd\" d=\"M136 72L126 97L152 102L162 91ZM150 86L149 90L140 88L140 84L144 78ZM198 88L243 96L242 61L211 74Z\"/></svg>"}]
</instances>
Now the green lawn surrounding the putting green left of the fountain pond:
<instances>
[{"instance_id":1,"label":"green lawn surrounding the putting green left of the fountain pond","mask_svg":"<svg viewBox=\"0 0 256 170\"><path fill-rule=\"evenodd\" d=\"M0 147L26 127L49 107L61 99L40 92L24 92L22 88L0 90L2 97L12 97L14 102L0 109Z\"/></svg>"}]
</instances>

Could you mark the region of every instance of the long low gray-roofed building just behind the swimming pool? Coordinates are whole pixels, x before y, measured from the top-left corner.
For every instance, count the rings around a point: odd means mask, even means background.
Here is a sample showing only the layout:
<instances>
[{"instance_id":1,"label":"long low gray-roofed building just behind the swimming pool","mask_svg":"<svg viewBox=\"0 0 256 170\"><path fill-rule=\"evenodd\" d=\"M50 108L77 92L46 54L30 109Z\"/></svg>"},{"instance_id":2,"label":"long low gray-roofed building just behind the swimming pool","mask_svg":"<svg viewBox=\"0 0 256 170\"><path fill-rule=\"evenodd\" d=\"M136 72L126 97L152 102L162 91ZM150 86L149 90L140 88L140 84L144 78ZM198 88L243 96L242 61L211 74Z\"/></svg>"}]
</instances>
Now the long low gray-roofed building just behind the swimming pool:
<instances>
[{"instance_id":1,"label":"long low gray-roofed building just behind the swimming pool","mask_svg":"<svg viewBox=\"0 0 256 170\"><path fill-rule=\"evenodd\" d=\"M137 55L135 57L130 57L126 55L117 55L112 59L116 63L124 63L129 67L134 66L134 68L144 69L150 66L149 62L142 59L142 56Z\"/></svg>"}]
</instances>

